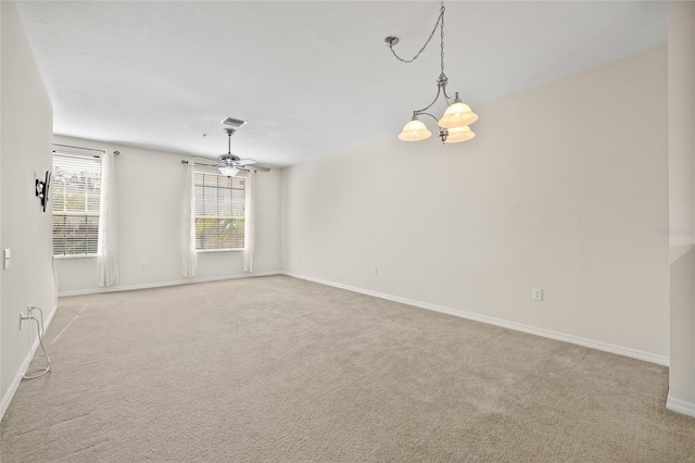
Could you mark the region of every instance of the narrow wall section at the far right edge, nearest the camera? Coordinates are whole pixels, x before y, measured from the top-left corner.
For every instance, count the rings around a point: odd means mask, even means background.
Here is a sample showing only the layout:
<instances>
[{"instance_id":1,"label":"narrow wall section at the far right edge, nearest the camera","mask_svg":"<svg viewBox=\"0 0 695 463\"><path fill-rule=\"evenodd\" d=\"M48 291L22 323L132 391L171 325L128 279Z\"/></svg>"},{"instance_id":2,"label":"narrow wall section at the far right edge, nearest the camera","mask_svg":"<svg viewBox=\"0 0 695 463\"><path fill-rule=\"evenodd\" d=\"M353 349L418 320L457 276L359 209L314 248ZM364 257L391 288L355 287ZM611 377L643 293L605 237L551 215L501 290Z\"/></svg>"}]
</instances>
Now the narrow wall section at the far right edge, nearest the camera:
<instances>
[{"instance_id":1,"label":"narrow wall section at the far right edge, nearest the camera","mask_svg":"<svg viewBox=\"0 0 695 463\"><path fill-rule=\"evenodd\" d=\"M695 3L669 2L671 367L667 406L695 416Z\"/></svg>"}]
</instances>

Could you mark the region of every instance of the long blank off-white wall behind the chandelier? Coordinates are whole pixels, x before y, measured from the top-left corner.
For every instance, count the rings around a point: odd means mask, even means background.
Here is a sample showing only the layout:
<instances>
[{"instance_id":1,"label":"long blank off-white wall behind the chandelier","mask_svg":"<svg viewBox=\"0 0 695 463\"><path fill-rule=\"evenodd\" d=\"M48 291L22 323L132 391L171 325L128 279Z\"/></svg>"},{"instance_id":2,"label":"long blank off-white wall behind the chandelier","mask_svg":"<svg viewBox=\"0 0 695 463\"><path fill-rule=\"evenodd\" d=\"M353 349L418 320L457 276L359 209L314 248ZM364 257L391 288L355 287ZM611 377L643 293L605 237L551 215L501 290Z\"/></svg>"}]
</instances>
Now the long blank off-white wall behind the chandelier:
<instances>
[{"instance_id":1,"label":"long blank off-white wall behind the chandelier","mask_svg":"<svg viewBox=\"0 0 695 463\"><path fill-rule=\"evenodd\" d=\"M666 47L475 110L283 170L283 268L668 362Z\"/></svg>"}]
</instances>

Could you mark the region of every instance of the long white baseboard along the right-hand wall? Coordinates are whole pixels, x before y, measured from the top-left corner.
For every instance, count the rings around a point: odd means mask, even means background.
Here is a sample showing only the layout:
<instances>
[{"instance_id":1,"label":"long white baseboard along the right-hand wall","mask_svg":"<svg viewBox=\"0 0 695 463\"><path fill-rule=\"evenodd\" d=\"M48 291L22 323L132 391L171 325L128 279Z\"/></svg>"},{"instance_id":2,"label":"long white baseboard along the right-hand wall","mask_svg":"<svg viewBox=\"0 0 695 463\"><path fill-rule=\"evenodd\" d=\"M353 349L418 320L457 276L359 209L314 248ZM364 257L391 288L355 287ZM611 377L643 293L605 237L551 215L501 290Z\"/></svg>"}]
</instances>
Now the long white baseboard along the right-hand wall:
<instances>
[{"instance_id":1,"label":"long white baseboard along the right-hand wall","mask_svg":"<svg viewBox=\"0 0 695 463\"><path fill-rule=\"evenodd\" d=\"M544 338L551 338L558 341L569 342L572 345L583 346L592 349L603 350L605 352L617 353L618 355L630 356L632 359L644 360L645 362L652 362L659 365L669 365L669 358L667 355L660 355L653 352L645 352L637 349L627 348L622 346L611 345L608 342L596 341L593 339L582 338L580 336L567 335L564 333L553 331L551 329L539 328L531 325L523 325L521 323L509 322L502 318L495 318L489 315L481 315L472 312L463 311L459 309L445 308L442 305L435 305L428 302L416 301L413 299L401 298L397 296L391 296L383 292L371 291L368 289L362 289L354 286L343 285L340 283L328 281L320 278L314 278L306 275L298 275L292 272L282 272L285 275L295 278L306 279L308 281L319 283L321 285L332 286L336 288L346 289L353 292L359 292L362 295L374 296L375 298L387 299L389 301L401 302L408 305L414 305L420 309L427 309L434 312L441 312L448 315L459 316L462 318L473 320L476 322L486 323L489 325L501 326L503 328L514 329L516 331L523 331L535 336L542 336Z\"/></svg>"}]
</instances>

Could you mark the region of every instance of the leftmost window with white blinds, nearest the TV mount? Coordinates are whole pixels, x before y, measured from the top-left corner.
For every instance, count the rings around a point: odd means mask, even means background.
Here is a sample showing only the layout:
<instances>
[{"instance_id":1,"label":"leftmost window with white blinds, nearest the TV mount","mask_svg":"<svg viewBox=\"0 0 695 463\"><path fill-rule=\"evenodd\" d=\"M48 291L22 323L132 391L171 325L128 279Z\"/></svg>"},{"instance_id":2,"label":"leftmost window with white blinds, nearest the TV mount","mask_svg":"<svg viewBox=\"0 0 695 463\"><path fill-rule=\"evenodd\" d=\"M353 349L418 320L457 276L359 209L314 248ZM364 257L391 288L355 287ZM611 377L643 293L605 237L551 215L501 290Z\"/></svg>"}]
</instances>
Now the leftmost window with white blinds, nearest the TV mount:
<instances>
[{"instance_id":1,"label":"leftmost window with white blinds, nearest the TV mount","mask_svg":"<svg viewBox=\"0 0 695 463\"><path fill-rule=\"evenodd\" d=\"M101 159L53 153L53 255L97 255Z\"/></svg>"}]
</instances>

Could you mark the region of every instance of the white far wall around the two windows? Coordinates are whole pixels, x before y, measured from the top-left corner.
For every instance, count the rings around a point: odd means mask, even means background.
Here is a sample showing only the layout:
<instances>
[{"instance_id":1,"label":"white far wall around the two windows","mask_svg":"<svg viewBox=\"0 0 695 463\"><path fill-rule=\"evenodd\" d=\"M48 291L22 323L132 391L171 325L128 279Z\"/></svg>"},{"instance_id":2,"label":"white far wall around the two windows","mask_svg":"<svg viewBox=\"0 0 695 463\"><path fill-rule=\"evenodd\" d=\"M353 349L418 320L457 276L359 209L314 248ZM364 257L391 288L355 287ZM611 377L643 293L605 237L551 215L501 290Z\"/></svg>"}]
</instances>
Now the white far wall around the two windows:
<instances>
[{"instance_id":1,"label":"white far wall around the two windows","mask_svg":"<svg viewBox=\"0 0 695 463\"><path fill-rule=\"evenodd\" d=\"M54 142L118 150L119 279L112 288L137 288L247 275L243 253L199 253L195 278L181 276L180 230L186 155L101 141L54 137ZM258 173L256 183L256 274L280 270L280 173ZM147 268L141 270L140 263ZM60 293L101 290L97 260L58 259Z\"/></svg>"}]
</instances>

